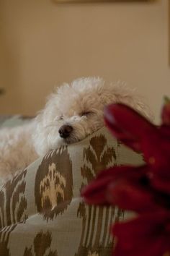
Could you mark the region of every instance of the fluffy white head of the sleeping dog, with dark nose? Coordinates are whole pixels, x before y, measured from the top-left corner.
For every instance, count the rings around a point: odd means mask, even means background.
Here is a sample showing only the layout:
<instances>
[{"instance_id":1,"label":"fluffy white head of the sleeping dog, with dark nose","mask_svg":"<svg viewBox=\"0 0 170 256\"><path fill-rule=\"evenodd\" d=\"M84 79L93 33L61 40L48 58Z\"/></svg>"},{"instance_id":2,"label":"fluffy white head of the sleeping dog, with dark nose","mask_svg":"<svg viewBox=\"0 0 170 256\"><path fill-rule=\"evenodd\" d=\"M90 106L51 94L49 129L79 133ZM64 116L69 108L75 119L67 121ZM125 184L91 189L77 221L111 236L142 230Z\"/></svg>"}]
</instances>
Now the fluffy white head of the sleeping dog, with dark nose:
<instances>
[{"instance_id":1,"label":"fluffy white head of the sleeping dog, with dark nose","mask_svg":"<svg viewBox=\"0 0 170 256\"><path fill-rule=\"evenodd\" d=\"M109 103L122 102L143 109L133 94L121 85L106 85L104 80L95 77L64 84L50 95L35 119L35 150L43 155L91 135L104 125L103 109Z\"/></svg>"}]
</instances>

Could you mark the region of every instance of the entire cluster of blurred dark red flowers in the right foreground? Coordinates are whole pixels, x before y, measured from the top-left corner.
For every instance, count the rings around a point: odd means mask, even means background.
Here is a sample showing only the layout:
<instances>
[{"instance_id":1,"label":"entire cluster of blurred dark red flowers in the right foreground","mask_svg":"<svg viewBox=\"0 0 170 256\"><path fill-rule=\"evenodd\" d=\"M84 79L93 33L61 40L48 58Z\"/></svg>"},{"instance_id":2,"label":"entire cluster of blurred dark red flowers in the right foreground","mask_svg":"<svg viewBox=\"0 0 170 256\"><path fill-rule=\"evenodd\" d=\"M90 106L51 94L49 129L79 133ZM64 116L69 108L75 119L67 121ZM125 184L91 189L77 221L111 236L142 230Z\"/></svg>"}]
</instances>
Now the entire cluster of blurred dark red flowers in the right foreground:
<instances>
[{"instance_id":1,"label":"entire cluster of blurred dark red flowers in the right foreground","mask_svg":"<svg viewBox=\"0 0 170 256\"><path fill-rule=\"evenodd\" d=\"M138 217L116 223L115 256L160 256L170 250L170 102L157 127L132 108L112 104L104 119L112 134L143 153L143 166L115 166L102 171L81 195L88 203L118 205Z\"/></svg>"}]
</instances>

